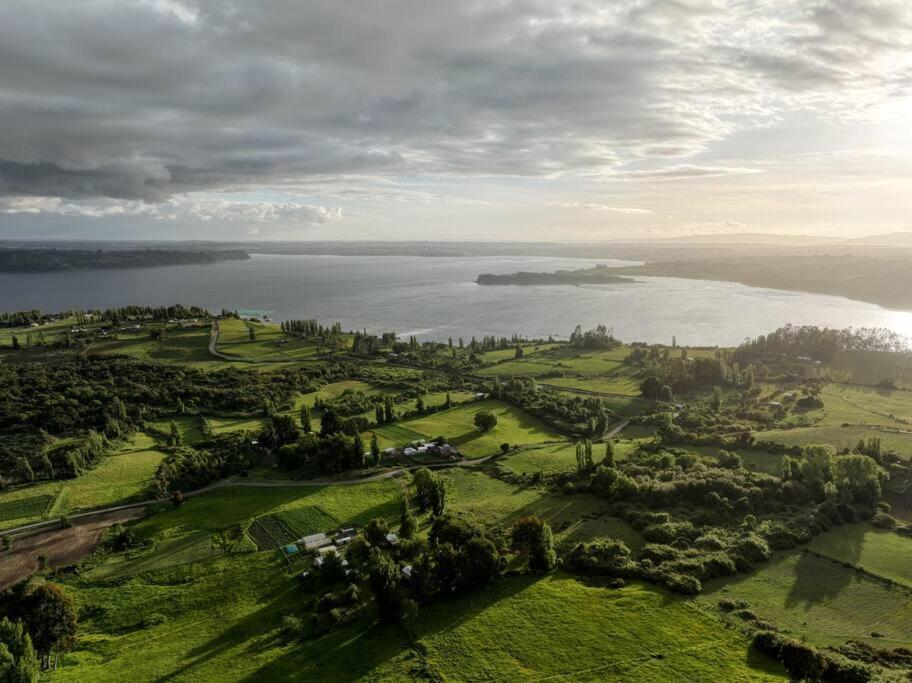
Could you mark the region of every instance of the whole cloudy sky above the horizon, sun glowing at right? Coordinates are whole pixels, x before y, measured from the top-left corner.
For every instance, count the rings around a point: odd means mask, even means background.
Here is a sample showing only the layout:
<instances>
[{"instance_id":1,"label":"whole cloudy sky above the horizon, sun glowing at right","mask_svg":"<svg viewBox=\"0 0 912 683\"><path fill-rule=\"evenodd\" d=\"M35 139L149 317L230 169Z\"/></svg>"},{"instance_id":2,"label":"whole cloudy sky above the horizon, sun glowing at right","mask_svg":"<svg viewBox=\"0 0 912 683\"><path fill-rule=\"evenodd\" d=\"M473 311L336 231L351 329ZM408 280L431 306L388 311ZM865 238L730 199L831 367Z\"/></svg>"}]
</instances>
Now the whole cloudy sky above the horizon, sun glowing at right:
<instances>
[{"instance_id":1,"label":"whole cloudy sky above the horizon, sun glowing at right","mask_svg":"<svg viewBox=\"0 0 912 683\"><path fill-rule=\"evenodd\" d=\"M908 0L3 0L0 239L912 230Z\"/></svg>"}]
</instances>

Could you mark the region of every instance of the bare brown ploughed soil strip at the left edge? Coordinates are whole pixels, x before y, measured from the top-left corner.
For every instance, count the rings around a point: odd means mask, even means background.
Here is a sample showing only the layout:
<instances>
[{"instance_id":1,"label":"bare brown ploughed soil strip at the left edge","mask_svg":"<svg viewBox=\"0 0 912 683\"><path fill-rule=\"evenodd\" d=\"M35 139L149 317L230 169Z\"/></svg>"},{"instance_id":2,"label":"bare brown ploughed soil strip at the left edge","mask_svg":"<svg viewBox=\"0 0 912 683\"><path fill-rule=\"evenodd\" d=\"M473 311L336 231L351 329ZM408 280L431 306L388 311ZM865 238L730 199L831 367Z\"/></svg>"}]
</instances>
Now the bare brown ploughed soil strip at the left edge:
<instances>
[{"instance_id":1,"label":"bare brown ploughed soil strip at the left edge","mask_svg":"<svg viewBox=\"0 0 912 683\"><path fill-rule=\"evenodd\" d=\"M143 508L114 510L84 521L75 520L71 527L13 536L12 550L0 550L0 589L38 569L39 555L46 555L51 567L78 562L95 549L105 529L117 522L142 517L144 512Z\"/></svg>"}]
</instances>

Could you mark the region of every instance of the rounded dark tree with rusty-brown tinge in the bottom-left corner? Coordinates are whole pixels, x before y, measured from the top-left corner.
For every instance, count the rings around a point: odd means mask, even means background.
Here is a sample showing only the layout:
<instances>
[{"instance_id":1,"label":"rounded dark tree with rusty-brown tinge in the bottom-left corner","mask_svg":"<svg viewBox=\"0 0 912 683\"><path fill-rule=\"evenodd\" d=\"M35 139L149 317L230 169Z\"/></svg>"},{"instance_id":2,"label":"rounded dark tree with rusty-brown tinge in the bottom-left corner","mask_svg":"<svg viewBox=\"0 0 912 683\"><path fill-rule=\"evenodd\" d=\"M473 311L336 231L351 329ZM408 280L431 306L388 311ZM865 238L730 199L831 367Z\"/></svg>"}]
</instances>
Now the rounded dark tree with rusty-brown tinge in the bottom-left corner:
<instances>
[{"instance_id":1,"label":"rounded dark tree with rusty-brown tinge in the bottom-left corner","mask_svg":"<svg viewBox=\"0 0 912 683\"><path fill-rule=\"evenodd\" d=\"M67 651L76 639L77 616L72 598L57 584L45 583L23 598L21 613L42 666L50 669L51 655Z\"/></svg>"}]
</instances>

